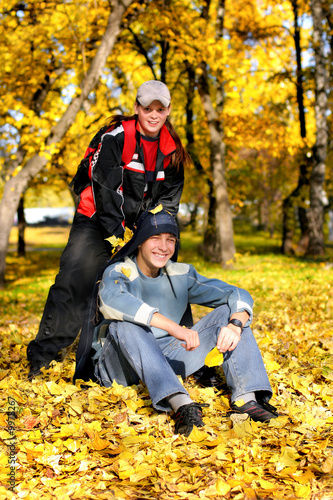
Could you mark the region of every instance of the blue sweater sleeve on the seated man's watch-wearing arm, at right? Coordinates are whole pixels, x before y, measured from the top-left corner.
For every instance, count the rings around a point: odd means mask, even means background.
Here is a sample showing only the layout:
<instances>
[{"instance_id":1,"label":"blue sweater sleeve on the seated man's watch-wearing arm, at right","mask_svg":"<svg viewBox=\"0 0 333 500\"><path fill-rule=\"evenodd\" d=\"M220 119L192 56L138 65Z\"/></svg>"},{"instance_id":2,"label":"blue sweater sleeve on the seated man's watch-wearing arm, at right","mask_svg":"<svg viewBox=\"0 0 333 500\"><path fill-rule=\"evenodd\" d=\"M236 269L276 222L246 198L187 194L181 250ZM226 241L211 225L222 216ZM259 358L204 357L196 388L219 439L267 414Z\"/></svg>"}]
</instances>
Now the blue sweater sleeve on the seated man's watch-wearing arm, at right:
<instances>
[{"instance_id":1,"label":"blue sweater sleeve on the seated man's watch-wearing arm, at right","mask_svg":"<svg viewBox=\"0 0 333 500\"><path fill-rule=\"evenodd\" d=\"M230 315L246 311L250 318L245 326L249 326L253 319L253 299L249 292L218 279L206 278L197 273L193 266L189 266L188 294L191 304L214 308L227 304Z\"/></svg>"}]
</instances>

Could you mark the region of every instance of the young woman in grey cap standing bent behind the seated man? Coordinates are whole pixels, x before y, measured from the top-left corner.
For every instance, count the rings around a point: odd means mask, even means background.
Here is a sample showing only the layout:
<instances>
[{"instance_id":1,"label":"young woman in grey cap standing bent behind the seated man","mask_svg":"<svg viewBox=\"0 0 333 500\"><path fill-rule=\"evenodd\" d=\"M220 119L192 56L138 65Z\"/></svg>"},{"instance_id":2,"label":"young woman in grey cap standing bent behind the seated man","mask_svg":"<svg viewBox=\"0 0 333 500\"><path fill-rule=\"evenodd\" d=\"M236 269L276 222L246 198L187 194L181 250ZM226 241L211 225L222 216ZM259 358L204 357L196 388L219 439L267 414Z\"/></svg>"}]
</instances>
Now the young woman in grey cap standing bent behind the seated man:
<instances>
[{"instance_id":1,"label":"young woman in grey cap standing bent behind the seated man","mask_svg":"<svg viewBox=\"0 0 333 500\"><path fill-rule=\"evenodd\" d=\"M79 203L60 270L28 345L29 377L78 335L96 275L110 258L105 239L121 238L159 203L176 216L190 159L168 119L170 109L167 86L147 81L137 91L135 115L112 117L92 139L71 183Z\"/></svg>"}]
</instances>

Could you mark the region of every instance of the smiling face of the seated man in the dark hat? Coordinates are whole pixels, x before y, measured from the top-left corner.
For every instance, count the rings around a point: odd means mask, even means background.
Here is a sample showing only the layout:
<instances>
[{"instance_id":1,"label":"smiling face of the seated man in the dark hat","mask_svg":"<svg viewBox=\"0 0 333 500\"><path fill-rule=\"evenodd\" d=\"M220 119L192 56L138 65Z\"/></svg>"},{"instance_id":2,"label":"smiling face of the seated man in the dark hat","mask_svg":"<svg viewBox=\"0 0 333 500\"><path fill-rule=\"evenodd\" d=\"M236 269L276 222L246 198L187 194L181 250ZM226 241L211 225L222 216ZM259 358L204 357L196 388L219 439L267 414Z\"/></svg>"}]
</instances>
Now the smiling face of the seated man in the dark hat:
<instances>
[{"instance_id":1,"label":"smiling face of the seated man in the dark hat","mask_svg":"<svg viewBox=\"0 0 333 500\"><path fill-rule=\"evenodd\" d=\"M138 248L136 262L143 274L156 278L175 253L177 238L171 233L151 236Z\"/></svg>"}]
</instances>

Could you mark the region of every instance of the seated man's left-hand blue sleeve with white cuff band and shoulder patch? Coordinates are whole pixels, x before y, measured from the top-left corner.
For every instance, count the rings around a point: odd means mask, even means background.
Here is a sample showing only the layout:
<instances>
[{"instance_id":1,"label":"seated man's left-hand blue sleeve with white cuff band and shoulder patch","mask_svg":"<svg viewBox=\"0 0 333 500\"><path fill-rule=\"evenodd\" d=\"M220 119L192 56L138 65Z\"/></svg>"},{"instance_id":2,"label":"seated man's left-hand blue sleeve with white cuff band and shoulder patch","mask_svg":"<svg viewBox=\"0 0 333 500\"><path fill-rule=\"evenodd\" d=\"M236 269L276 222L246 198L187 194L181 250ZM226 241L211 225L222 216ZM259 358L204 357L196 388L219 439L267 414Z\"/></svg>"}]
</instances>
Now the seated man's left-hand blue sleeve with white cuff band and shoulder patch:
<instances>
[{"instance_id":1,"label":"seated man's left-hand blue sleeve with white cuff band and shoulder patch","mask_svg":"<svg viewBox=\"0 0 333 500\"><path fill-rule=\"evenodd\" d=\"M118 262L104 271L99 286L99 307L105 319L149 326L154 312L158 310L131 293L138 271L132 261L128 262ZM136 286L136 289L139 290L139 287Z\"/></svg>"}]
</instances>

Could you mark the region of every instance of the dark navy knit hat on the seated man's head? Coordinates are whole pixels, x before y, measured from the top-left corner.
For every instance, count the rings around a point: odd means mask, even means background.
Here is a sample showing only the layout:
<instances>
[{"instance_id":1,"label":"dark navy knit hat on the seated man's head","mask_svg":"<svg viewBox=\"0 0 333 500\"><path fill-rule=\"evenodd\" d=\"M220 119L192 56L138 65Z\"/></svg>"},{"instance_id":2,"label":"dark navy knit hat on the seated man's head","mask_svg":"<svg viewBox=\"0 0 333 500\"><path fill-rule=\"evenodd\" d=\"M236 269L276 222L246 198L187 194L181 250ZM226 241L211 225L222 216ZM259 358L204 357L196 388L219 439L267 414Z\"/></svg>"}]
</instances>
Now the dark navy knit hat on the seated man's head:
<instances>
[{"instance_id":1,"label":"dark navy knit hat on the seated man's head","mask_svg":"<svg viewBox=\"0 0 333 500\"><path fill-rule=\"evenodd\" d=\"M132 238L116 253L110 264L134 255L138 247L148 238L161 233L170 233L179 238L179 228L174 217L162 205L158 205L141 215Z\"/></svg>"}]
</instances>

